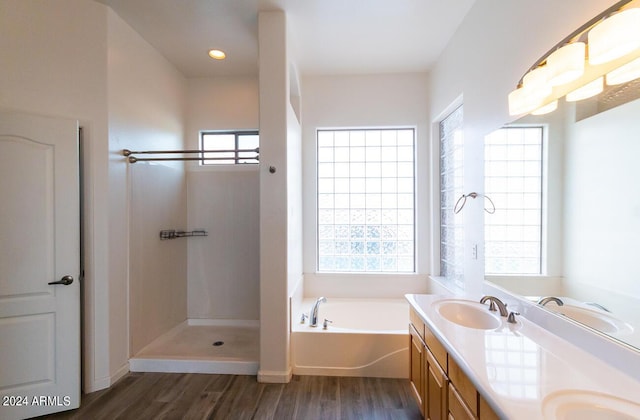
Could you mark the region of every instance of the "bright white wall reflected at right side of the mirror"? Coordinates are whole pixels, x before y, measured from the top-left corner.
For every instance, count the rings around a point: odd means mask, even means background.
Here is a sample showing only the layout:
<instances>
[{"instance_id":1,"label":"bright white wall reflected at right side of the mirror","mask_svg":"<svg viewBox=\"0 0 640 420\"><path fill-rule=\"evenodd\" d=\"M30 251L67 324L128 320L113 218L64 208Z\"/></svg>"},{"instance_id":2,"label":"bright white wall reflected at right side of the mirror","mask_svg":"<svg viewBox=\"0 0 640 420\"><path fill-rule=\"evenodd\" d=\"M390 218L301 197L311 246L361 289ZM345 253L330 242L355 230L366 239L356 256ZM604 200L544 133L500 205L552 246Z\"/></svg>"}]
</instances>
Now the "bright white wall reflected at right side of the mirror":
<instances>
[{"instance_id":1,"label":"bright white wall reflected at right side of the mirror","mask_svg":"<svg viewBox=\"0 0 640 420\"><path fill-rule=\"evenodd\" d=\"M629 321L640 321L638 115L635 100L575 123L567 139L565 287Z\"/></svg>"}]
</instances>

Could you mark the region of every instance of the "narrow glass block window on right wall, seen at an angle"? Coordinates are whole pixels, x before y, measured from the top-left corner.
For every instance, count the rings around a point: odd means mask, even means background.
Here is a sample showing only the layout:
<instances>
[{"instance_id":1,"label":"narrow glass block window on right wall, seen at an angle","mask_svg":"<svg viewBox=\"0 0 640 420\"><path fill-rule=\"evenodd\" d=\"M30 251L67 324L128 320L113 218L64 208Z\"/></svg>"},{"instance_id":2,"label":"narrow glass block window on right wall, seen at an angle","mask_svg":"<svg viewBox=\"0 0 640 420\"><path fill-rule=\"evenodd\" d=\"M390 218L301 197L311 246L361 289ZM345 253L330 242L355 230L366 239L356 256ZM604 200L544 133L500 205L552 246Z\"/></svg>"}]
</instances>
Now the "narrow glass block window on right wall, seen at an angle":
<instances>
[{"instance_id":1,"label":"narrow glass block window on right wall, seen at an angle","mask_svg":"<svg viewBox=\"0 0 640 420\"><path fill-rule=\"evenodd\" d=\"M463 194L464 132L460 106L440 122L440 275L464 288L464 220L453 209Z\"/></svg>"}]
</instances>

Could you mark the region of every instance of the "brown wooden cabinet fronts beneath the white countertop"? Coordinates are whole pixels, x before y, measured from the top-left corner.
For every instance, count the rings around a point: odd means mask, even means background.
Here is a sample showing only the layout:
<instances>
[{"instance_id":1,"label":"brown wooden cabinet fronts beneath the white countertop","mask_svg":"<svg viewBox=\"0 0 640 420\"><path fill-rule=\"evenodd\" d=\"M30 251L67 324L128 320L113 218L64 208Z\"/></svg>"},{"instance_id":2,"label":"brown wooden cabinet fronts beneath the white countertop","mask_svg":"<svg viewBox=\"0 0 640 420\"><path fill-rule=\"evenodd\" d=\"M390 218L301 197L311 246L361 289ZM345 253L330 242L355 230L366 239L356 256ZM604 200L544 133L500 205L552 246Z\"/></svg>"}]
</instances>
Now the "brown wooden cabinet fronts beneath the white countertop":
<instances>
[{"instance_id":1,"label":"brown wooden cabinet fronts beneath the white countertop","mask_svg":"<svg viewBox=\"0 0 640 420\"><path fill-rule=\"evenodd\" d=\"M469 377L413 308L410 319L410 380L424 418L498 419Z\"/></svg>"}]
</instances>

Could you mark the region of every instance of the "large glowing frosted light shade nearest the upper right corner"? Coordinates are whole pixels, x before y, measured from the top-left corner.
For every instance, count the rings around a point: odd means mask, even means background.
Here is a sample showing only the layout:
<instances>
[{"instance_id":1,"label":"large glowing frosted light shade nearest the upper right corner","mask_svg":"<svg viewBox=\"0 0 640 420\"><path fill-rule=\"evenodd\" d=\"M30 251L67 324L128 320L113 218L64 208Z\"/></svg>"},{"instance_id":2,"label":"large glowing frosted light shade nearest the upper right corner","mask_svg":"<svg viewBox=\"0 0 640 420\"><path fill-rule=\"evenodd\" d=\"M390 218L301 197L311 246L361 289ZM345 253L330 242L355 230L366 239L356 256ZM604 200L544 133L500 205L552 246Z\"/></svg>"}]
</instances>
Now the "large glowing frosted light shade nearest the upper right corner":
<instances>
[{"instance_id":1,"label":"large glowing frosted light shade nearest the upper right corner","mask_svg":"<svg viewBox=\"0 0 640 420\"><path fill-rule=\"evenodd\" d=\"M623 10L589 31L589 64L608 63L640 48L640 8Z\"/></svg>"}]
</instances>

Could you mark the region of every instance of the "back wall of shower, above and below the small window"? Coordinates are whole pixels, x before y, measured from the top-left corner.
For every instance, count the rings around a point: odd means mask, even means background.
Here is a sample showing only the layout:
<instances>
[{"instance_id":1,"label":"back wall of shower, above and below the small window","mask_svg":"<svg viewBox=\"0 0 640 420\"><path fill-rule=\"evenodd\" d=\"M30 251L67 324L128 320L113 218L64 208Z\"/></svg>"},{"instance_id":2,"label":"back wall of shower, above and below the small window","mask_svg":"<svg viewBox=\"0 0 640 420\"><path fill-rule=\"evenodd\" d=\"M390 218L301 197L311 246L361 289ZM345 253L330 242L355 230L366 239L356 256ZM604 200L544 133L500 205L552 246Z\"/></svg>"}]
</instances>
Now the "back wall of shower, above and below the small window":
<instances>
[{"instance_id":1,"label":"back wall of shower, above and below the small window","mask_svg":"<svg viewBox=\"0 0 640 420\"><path fill-rule=\"evenodd\" d=\"M258 129L258 79L191 79L187 137L202 130ZM257 165L187 166L189 318L257 320L260 308L260 179Z\"/></svg>"}]
</instances>

